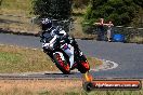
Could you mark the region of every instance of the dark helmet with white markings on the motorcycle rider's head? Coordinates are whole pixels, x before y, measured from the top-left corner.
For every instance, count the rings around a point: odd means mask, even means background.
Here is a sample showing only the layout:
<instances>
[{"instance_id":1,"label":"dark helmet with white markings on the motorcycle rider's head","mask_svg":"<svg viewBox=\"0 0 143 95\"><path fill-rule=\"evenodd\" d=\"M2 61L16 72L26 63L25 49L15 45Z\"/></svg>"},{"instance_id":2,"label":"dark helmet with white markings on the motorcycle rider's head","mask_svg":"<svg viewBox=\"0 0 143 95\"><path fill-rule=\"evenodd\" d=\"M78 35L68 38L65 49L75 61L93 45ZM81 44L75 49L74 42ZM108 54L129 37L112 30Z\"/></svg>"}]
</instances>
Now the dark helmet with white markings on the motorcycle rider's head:
<instances>
[{"instance_id":1,"label":"dark helmet with white markings on the motorcycle rider's head","mask_svg":"<svg viewBox=\"0 0 143 95\"><path fill-rule=\"evenodd\" d=\"M41 26L42 26L42 30L47 30L49 28L52 27L52 21L49 19L49 18L42 18L42 22L41 22Z\"/></svg>"}]
</instances>

